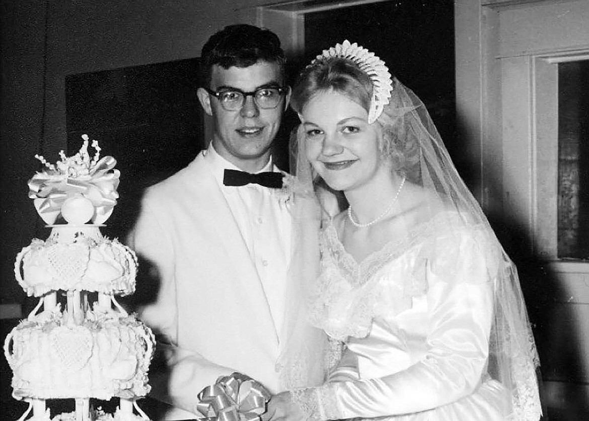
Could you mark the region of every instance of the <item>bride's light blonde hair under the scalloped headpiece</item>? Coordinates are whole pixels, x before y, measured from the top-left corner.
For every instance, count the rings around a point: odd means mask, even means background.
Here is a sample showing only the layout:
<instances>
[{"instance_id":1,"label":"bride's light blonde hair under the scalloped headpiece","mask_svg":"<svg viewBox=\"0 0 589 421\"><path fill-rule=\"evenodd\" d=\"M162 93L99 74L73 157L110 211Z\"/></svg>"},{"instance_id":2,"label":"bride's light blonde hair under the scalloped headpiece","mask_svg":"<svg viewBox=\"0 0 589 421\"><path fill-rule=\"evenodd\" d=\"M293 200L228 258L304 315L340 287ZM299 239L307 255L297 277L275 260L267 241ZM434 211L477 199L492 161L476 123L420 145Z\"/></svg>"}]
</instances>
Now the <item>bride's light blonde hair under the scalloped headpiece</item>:
<instances>
[{"instance_id":1,"label":"bride's light blonde hair under the scalloped headpiece","mask_svg":"<svg viewBox=\"0 0 589 421\"><path fill-rule=\"evenodd\" d=\"M393 78L392 98L382 114L375 121L379 131L379 147L383 157L391 164L393 171L417 181L419 145L407 136L401 98L395 92L397 79ZM299 114L305 105L317 94L337 92L345 95L369 112L373 94L372 80L358 65L343 57L316 59L297 78L293 87L290 106ZM401 111L401 112L399 112ZM414 139L414 137L413 137Z\"/></svg>"}]
</instances>

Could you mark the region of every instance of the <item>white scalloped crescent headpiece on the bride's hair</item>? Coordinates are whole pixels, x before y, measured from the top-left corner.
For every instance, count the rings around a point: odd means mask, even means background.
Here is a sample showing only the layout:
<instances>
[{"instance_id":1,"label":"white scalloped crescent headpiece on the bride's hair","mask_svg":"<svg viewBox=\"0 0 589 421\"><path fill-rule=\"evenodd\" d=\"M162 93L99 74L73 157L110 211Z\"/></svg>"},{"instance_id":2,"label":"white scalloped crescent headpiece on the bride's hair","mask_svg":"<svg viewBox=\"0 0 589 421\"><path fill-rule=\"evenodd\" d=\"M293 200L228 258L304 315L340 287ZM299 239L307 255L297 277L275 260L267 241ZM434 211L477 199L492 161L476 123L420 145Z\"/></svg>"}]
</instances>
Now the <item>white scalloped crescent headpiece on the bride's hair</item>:
<instances>
[{"instance_id":1,"label":"white scalloped crescent headpiece on the bride's hair","mask_svg":"<svg viewBox=\"0 0 589 421\"><path fill-rule=\"evenodd\" d=\"M323 54L318 55L310 65L315 64L317 60L331 57L342 57L353 61L372 80L372 100L368 111L368 123L372 124L382 114L382 110L391 98L393 87L389 68L373 52L359 47L357 42L350 44L347 39L343 44L336 44L335 47L324 49Z\"/></svg>"}]
</instances>

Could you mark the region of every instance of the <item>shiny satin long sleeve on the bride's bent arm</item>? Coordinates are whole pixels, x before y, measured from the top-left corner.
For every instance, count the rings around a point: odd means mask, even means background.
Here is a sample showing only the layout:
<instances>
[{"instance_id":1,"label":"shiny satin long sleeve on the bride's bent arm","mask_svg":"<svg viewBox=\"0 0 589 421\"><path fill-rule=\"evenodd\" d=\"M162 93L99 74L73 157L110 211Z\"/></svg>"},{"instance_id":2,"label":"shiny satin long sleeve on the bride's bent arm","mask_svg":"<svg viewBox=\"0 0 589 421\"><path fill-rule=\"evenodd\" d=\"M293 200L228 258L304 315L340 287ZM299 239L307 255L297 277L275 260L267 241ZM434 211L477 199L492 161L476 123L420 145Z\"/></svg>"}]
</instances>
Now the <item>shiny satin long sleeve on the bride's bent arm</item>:
<instances>
[{"instance_id":1,"label":"shiny satin long sleeve on the bride's bent arm","mask_svg":"<svg viewBox=\"0 0 589 421\"><path fill-rule=\"evenodd\" d=\"M387 376L294 391L293 399L309 419L420 412L455 402L476 389L487 367L493 283L488 259L478 244L461 241L452 249L453 253L446 249L426 264L425 357Z\"/></svg>"}]
</instances>

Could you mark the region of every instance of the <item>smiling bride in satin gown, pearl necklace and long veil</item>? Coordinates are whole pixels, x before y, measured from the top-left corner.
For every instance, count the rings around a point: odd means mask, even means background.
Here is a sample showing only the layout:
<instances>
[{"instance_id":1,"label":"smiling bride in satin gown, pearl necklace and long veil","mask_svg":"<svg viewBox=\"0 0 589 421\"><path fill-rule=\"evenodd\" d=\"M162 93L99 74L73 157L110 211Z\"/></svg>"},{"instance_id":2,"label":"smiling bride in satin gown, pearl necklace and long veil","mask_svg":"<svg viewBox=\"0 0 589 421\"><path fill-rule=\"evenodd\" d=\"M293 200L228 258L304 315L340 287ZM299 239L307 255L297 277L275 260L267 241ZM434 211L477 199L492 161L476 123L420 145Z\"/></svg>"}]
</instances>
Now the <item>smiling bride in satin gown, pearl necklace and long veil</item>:
<instances>
[{"instance_id":1,"label":"smiling bride in satin gown, pearl necklace and long veil","mask_svg":"<svg viewBox=\"0 0 589 421\"><path fill-rule=\"evenodd\" d=\"M325 215L309 321L339 347L325 383L279 393L262 419L538 420L517 270L423 103L346 41L302 72L292 106L297 177Z\"/></svg>"}]
</instances>

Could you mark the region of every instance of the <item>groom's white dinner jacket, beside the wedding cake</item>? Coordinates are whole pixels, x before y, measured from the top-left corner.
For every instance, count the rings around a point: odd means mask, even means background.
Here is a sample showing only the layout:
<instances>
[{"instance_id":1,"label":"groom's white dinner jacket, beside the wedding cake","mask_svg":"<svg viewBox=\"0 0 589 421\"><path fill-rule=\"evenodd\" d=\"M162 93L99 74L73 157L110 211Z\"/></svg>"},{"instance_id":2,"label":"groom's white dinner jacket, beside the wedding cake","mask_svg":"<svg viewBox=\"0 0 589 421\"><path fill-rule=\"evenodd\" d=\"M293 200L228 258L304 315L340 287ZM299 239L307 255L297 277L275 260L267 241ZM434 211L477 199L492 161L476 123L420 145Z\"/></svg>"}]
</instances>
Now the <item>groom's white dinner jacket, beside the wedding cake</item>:
<instances>
[{"instance_id":1,"label":"groom's white dinner jacket, beside the wedding cake","mask_svg":"<svg viewBox=\"0 0 589 421\"><path fill-rule=\"evenodd\" d=\"M159 279L157 299L140 316L174 344L169 375L161 380L150 373L153 395L193 412L196 394L234 371L272 393L279 388L280 341L270 307L208 165L201 152L148 188L130 236L130 246Z\"/></svg>"}]
</instances>

